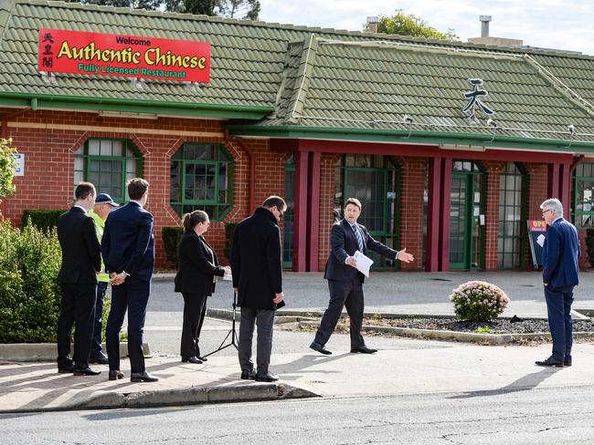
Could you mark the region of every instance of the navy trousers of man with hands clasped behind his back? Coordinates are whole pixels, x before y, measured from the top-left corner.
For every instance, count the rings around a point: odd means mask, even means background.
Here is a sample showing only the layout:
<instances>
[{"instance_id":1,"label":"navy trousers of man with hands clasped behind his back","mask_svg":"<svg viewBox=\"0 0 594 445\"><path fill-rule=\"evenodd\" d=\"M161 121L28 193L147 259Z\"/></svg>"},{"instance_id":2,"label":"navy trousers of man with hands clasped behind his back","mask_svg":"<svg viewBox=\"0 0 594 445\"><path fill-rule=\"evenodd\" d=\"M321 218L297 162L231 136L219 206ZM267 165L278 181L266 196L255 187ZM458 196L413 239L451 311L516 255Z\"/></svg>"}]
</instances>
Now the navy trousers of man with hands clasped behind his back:
<instances>
[{"instance_id":1,"label":"navy trousers of man with hands clasped behind his back","mask_svg":"<svg viewBox=\"0 0 594 445\"><path fill-rule=\"evenodd\" d=\"M110 370L120 369L120 331L128 311L128 356L131 372L144 372L143 327L151 282L129 276L122 285L111 286L111 309L105 332Z\"/></svg>"}]
</instances>

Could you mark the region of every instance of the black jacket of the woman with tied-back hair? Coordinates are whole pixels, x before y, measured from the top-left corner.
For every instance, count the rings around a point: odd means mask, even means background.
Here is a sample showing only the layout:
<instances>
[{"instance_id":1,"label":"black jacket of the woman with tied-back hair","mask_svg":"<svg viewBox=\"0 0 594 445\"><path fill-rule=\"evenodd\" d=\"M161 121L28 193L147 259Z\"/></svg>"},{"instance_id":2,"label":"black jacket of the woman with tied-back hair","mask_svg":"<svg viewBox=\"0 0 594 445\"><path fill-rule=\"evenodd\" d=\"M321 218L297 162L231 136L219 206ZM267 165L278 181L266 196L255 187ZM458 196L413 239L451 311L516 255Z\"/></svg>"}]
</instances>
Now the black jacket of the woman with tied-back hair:
<instances>
[{"instance_id":1,"label":"black jacket of the woman with tied-back hair","mask_svg":"<svg viewBox=\"0 0 594 445\"><path fill-rule=\"evenodd\" d=\"M210 248L214 258L207 250ZM207 240L196 232L186 232L177 248L179 268L175 274L175 292L212 295L214 275L223 276L225 269L218 265L217 254Z\"/></svg>"}]
</instances>

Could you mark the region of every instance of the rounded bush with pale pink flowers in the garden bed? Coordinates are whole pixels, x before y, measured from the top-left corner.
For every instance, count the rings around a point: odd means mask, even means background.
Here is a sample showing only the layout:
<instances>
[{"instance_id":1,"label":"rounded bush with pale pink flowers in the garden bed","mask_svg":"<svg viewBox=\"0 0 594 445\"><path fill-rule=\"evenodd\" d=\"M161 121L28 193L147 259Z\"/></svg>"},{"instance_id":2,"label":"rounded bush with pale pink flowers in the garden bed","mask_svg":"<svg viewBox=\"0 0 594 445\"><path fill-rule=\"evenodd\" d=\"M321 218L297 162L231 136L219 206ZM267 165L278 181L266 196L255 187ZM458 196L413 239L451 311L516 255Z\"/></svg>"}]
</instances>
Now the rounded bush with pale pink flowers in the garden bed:
<instances>
[{"instance_id":1,"label":"rounded bush with pale pink flowers in the garden bed","mask_svg":"<svg viewBox=\"0 0 594 445\"><path fill-rule=\"evenodd\" d=\"M450 301L456 318L469 321L491 321L500 316L510 302L503 290L484 281L469 281L456 287Z\"/></svg>"}]
</instances>

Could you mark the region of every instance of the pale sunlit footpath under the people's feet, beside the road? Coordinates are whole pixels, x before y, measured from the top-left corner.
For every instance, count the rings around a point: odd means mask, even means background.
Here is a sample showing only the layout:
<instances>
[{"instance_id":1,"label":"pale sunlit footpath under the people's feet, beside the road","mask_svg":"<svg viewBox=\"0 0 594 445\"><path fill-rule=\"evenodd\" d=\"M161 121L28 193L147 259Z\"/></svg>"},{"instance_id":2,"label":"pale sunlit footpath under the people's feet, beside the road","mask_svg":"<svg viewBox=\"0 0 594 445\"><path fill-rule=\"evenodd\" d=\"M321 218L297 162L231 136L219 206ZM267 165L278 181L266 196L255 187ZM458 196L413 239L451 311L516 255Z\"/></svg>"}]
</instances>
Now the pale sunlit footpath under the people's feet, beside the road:
<instances>
[{"instance_id":1,"label":"pale sunlit footpath under the people's feet, beside the road","mask_svg":"<svg viewBox=\"0 0 594 445\"><path fill-rule=\"evenodd\" d=\"M237 358L210 357L207 365L178 358L147 359L157 383L128 378L58 374L54 363L0 366L0 412L55 409L139 408L193 403L291 397L354 397L448 392L470 398L475 391L519 391L542 386L583 386L594 382L594 346L576 345L574 366L541 368L550 346L481 347L455 343L374 338L380 348L368 356L347 352L348 339L333 337L334 354L313 351L275 354L271 370L279 385L239 380ZM122 362L123 363L123 362ZM128 369L123 369L129 376Z\"/></svg>"}]
</instances>

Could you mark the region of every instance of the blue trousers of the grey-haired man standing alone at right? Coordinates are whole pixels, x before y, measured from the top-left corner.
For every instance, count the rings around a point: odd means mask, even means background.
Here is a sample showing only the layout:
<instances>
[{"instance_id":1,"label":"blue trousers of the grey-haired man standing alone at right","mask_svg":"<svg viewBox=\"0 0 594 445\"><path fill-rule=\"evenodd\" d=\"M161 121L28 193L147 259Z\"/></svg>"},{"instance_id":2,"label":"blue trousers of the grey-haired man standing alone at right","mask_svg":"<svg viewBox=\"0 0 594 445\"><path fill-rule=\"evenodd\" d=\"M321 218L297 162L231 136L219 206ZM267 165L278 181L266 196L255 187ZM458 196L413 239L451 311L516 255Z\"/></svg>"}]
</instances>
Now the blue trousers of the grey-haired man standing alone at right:
<instances>
[{"instance_id":1,"label":"blue trousers of the grey-haired man standing alone at right","mask_svg":"<svg viewBox=\"0 0 594 445\"><path fill-rule=\"evenodd\" d=\"M559 287L557 289L545 287L546 311L548 313L548 327L553 337L554 360L571 357L573 345L573 321L571 320L571 304L573 303L573 287Z\"/></svg>"}]
</instances>

